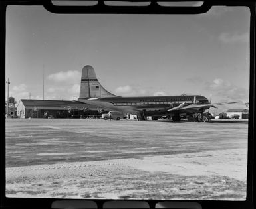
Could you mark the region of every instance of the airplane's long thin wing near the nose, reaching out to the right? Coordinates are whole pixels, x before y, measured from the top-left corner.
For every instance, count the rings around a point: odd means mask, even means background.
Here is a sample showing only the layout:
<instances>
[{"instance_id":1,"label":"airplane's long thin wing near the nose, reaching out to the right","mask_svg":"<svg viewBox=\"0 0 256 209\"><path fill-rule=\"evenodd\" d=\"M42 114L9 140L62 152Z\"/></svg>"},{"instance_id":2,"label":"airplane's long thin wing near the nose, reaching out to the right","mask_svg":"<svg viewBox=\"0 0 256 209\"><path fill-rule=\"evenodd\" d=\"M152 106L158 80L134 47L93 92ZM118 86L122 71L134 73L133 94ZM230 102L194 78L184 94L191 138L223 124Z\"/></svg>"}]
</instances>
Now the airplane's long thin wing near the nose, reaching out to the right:
<instances>
[{"instance_id":1,"label":"airplane's long thin wing near the nose, reaching out to the right","mask_svg":"<svg viewBox=\"0 0 256 209\"><path fill-rule=\"evenodd\" d=\"M233 103L237 103L237 102L221 102L221 103L209 103L209 104L191 104L191 105L187 105L185 107L180 107L180 108L177 108L177 107L174 107L172 109L168 109L168 111L184 111L184 112L190 112L190 111L201 111L203 109L209 109L210 107L214 107L216 108L215 106L217 105L224 105L224 104L233 104Z\"/></svg>"}]
</instances>

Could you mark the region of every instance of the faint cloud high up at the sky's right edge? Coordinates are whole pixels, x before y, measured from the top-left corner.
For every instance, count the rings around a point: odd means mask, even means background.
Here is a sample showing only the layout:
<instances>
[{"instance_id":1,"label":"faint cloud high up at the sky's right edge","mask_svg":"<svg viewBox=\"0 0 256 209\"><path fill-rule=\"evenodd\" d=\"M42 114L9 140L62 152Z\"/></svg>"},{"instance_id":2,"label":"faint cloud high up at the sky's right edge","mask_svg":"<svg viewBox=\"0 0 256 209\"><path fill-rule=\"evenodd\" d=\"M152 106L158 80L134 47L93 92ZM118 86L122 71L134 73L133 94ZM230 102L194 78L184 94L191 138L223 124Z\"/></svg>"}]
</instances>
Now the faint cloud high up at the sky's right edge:
<instances>
[{"instance_id":1,"label":"faint cloud high up at the sky's right edge","mask_svg":"<svg viewBox=\"0 0 256 209\"><path fill-rule=\"evenodd\" d=\"M221 33L221 35L219 35L219 40L225 44L235 42L249 42L249 33Z\"/></svg>"}]
</instances>

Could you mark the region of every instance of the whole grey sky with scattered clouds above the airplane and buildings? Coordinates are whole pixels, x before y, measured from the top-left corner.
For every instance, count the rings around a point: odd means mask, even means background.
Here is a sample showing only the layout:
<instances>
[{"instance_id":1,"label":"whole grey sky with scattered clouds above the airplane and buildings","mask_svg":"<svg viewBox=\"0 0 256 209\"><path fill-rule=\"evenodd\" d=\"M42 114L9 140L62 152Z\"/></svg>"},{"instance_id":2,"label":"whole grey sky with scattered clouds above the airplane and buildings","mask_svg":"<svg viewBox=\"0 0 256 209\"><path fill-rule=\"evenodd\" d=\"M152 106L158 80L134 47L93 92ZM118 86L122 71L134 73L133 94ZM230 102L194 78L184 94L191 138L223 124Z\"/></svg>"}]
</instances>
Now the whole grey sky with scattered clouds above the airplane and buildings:
<instances>
[{"instance_id":1,"label":"whole grey sky with scattered clouds above the airplane and buildings","mask_svg":"<svg viewBox=\"0 0 256 209\"><path fill-rule=\"evenodd\" d=\"M44 86L45 100L76 100L82 68L90 65L118 96L200 94L211 103L238 102L215 113L245 108L249 17L247 7L212 7L201 15L74 15L10 5L9 96L17 103L43 99Z\"/></svg>"}]
</instances>

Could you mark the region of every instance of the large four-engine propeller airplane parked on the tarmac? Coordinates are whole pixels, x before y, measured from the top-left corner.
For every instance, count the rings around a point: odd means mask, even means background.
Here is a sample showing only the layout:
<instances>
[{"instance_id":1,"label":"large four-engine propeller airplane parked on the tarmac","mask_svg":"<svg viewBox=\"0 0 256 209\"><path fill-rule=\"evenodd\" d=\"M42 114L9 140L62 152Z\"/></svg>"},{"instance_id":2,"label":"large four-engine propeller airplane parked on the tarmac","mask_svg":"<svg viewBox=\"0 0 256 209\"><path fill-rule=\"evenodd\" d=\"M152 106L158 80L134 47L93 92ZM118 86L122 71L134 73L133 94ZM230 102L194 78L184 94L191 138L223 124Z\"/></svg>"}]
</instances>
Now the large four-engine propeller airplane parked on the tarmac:
<instances>
[{"instance_id":1,"label":"large four-engine propeller airplane parked on the tarmac","mask_svg":"<svg viewBox=\"0 0 256 209\"><path fill-rule=\"evenodd\" d=\"M138 115L142 120L151 116L152 120L165 116L172 121L180 121L181 115L195 117L196 113L203 113L210 107L236 102L222 102L211 104L201 95L180 96L136 96L122 97L108 92L98 81L94 68L86 65L82 68L80 96L78 101L90 104L106 111L120 111L121 113Z\"/></svg>"}]
</instances>

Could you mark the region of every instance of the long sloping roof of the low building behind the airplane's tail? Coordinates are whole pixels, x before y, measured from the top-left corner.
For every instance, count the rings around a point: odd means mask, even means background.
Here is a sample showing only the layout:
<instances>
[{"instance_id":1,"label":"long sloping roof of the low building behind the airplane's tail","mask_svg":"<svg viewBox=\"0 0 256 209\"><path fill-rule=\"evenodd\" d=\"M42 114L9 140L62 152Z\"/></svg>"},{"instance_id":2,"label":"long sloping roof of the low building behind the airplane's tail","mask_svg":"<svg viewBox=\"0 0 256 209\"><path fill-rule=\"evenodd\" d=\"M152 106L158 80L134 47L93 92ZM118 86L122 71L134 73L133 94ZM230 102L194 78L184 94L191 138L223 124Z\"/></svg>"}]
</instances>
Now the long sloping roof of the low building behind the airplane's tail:
<instances>
[{"instance_id":1,"label":"long sloping roof of the low building behind the airplane's tail","mask_svg":"<svg viewBox=\"0 0 256 209\"><path fill-rule=\"evenodd\" d=\"M23 105L28 108L39 108L39 109L68 109L68 107L74 108L84 108L89 107L96 109L95 106L85 104L78 101L68 101L68 100L25 100L21 99Z\"/></svg>"}]
</instances>

